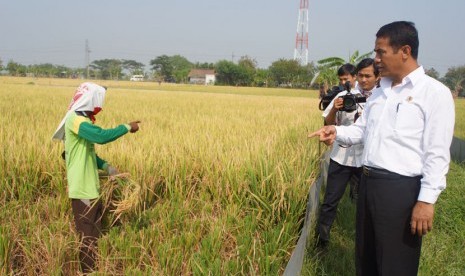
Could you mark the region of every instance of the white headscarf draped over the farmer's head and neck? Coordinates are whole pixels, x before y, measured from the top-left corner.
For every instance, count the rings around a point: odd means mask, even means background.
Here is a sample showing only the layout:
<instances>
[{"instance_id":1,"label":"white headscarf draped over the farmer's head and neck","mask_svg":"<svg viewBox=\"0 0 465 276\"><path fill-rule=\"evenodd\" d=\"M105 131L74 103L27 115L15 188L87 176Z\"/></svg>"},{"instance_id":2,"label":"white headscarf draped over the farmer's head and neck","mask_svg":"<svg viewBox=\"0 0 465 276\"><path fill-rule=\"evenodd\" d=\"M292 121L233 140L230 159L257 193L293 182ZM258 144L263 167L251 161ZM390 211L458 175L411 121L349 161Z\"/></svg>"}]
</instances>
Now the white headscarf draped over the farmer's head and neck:
<instances>
[{"instance_id":1,"label":"white headscarf draped over the farmer's head and neck","mask_svg":"<svg viewBox=\"0 0 465 276\"><path fill-rule=\"evenodd\" d=\"M75 111L91 111L97 114L103 107L105 88L91 82L84 82L76 89L73 99L68 106L68 112L55 130L52 139L65 139L65 122L69 114Z\"/></svg>"}]
</instances>

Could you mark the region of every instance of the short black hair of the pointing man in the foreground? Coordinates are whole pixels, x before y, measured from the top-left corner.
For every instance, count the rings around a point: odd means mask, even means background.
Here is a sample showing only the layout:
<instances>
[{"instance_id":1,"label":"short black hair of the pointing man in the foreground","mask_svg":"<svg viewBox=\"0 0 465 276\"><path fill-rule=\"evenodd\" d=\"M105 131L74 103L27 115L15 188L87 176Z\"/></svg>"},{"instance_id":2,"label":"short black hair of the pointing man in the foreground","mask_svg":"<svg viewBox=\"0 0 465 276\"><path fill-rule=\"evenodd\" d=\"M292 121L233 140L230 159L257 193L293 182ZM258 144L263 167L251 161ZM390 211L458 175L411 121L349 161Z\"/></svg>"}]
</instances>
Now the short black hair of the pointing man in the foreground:
<instances>
[{"instance_id":1,"label":"short black hair of the pointing man in the foreground","mask_svg":"<svg viewBox=\"0 0 465 276\"><path fill-rule=\"evenodd\" d=\"M376 38L385 37L389 38L389 44L396 51L400 47L410 46L411 55L416 60L418 58L418 31L415 24L409 21L395 21L384 25L376 33Z\"/></svg>"}]
</instances>

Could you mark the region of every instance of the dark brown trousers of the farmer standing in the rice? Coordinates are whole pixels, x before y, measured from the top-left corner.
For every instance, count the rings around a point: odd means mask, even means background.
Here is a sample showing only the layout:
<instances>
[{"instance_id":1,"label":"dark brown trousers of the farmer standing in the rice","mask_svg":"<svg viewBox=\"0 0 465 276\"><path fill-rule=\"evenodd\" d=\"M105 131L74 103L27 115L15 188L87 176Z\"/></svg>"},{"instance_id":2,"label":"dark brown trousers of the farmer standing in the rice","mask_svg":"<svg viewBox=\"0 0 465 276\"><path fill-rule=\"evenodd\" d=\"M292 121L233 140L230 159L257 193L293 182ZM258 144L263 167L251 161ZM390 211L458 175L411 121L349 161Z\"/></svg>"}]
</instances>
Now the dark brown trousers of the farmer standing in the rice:
<instances>
[{"instance_id":1,"label":"dark brown trousers of the farmer standing in the rice","mask_svg":"<svg viewBox=\"0 0 465 276\"><path fill-rule=\"evenodd\" d=\"M74 222L79 233L81 244L79 246L79 262L84 274L95 269L97 254L97 240L102 228L102 202L91 201L86 205L80 199L72 199Z\"/></svg>"}]
</instances>

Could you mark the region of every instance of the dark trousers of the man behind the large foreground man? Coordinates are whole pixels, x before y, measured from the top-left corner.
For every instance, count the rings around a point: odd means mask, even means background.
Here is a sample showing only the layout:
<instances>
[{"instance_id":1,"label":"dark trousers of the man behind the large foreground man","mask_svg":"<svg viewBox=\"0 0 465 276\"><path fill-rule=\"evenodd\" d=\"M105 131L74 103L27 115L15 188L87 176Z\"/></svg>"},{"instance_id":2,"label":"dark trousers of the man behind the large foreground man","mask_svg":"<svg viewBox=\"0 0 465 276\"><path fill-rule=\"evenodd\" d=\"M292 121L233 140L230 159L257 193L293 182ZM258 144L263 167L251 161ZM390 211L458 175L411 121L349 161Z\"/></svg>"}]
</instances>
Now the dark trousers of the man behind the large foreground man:
<instances>
[{"instance_id":1,"label":"dark trousers of the man behind the large foreground man","mask_svg":"<svg viewBox=\"0 0 465 276\"><path fill-rule=\"evenodd\" d=\"M336 219L337 205L347 187L349 180L356 176L360 179L361 167L344 166L330 159L326 192L320 206L316 234L320 240L329 241L331 226Z\"/></svg>"}]
</instances>

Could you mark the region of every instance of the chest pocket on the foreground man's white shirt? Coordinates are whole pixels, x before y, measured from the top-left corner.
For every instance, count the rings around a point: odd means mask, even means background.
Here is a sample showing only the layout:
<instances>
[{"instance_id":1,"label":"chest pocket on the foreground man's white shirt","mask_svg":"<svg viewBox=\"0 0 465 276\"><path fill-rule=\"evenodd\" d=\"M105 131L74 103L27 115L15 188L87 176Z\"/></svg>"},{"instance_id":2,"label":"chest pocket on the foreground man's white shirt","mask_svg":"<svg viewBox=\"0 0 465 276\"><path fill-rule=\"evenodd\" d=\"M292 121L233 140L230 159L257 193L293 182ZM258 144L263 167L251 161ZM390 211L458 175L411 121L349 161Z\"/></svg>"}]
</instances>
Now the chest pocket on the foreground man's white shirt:
<instances>
[{"instance_id":1,"label":"chest pocket on the foreground man's white shirt","mask_svg":"<svg viewBox=\"0 0 465 276\"><path fill-rule=\"evenodd\" d=\"M394 132L397 135L421 135L423 127L424 115L419 104L405 100L397 104L394 125Z\"/></svg>"}]
</instances>

